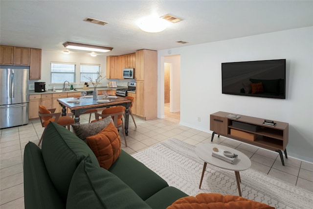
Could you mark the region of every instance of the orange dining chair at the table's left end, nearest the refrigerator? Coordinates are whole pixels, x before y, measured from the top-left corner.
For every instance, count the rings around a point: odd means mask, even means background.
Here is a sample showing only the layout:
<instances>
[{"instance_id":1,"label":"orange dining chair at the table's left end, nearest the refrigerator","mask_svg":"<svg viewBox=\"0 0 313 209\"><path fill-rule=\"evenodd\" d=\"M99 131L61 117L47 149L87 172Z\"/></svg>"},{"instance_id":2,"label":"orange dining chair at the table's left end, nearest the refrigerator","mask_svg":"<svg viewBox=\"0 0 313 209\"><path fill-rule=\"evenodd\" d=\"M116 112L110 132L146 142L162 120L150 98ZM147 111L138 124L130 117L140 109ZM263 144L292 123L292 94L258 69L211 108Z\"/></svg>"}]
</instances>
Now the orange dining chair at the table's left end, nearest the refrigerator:
<instances>
[{"instance_id":1,"label":"orange dining chair at the table's left end, nearest the refrigerator","mask_svg":"<svg viewBox=\"0 0 313 209\"><path fill-rule=\"evenodd\" d=\"M54 109L47 109L45 106L40 105L39 106L39 119L41 122L42 127L47 127L49 122L55 122L58 123L59 125L62 125L64 127L67 126L67 129L70 130L70 124L74 123L74 119L71 118L70 116L61 116L61 113L55 113L55 108ZM41 144L41 141L43 140L43 136L45 134L45 130L39 140L38 146Z\"/></svg>"}]
</instances>

